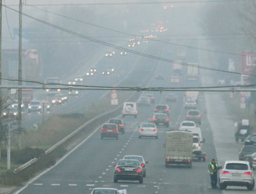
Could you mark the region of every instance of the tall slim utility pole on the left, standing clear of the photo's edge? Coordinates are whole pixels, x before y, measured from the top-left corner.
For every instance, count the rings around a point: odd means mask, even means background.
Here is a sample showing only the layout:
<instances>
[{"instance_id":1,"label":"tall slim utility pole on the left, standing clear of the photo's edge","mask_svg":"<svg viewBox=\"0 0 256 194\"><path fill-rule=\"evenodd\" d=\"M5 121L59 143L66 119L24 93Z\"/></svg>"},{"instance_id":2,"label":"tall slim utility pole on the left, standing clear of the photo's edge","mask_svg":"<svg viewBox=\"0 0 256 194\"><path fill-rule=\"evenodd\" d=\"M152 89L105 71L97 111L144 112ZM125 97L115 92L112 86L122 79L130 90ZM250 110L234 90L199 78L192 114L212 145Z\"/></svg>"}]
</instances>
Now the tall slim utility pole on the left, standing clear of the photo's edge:
<instances>
[{"instance_id":1,"label":"tall slim utility pole on the left, standing clear of the photo's edge","mask_svg":"<svg viewBox=\"0 0 256 194\"><path fill-rule=\"evenodd\" d=\"M19 70L18 70L18 86L22 85L22 0L19 0ZM21 120L21 100L22 89L18 89L18 150L21 149L22 120Z\"/></svg>"}]
</instances>

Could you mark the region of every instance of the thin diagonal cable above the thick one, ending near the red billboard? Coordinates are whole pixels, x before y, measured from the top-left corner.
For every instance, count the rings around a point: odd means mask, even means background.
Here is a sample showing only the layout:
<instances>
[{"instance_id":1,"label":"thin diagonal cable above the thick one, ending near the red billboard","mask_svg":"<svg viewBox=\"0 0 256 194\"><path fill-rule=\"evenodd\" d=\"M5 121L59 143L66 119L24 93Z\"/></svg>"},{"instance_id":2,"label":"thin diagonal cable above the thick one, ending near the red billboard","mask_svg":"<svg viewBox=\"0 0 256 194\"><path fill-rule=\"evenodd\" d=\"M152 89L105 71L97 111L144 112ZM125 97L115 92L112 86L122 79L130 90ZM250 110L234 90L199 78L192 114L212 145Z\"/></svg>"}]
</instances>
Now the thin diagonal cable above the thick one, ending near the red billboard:
<instances>
[{"instance_id":1,"label":"thin diagonal cable above the thick one, ending near the red billboard","mask_svg":"<svg viewBox=\"0 0 256 194\"><path fill-rule=\"evenodd\" d=\"M28 4L26 4L26 5L28 5ZM106 30L109 30L109 31L112 31L112 32L117 32L117 33L129 35L129 36L133 36L133 37L142 37L143 39L146 39L146 38L144 38L144 36L135 35L135 34L132 34L132 33L127 33L127 32L122 32L122 31L118 31L118 30L116 30L116 29L111 29L111 28L107 28L107 27L100 26L100 25L92 24L92 23L89 23L89 22L86 22L86 21L74 19L74 18L71 18L71 17L67 17L67 16L64 16L64 15L61 15L61 14L59 14L59 13L54 13L54 12L51 12L51 11L48 11L48 10L45 10L45 9L42 9L42 8L35 7L34 5L28 5L28 6L33 7L33 8L35 8L35 9L38 9L38 10L41 10L41 11L44 11L44 12L48 12L48 13L51 13L51 14L60 16L60 17L64 17L64 18L66 18L66 19L70 19L70 20L73 20L73 21L77 21L77 22L80 22L80 23L83 23L83 24L87 24L87 25L91 25L91 26L94 26L94 27L106 29ZM215 52L215 53L222 53L222 54L228 54L228 55L241 56L241 54L232 53L232 52L223 52L223 51L216 51L216 50L211 50L211 49L206 49L206 48L192 47L192 46L188 46L188 45L182 45L182 44L177 44L177 43L172 43L172 42L166 42L166 41L157 40L157 39L151 39L151 40L152 40L152 41L161 42L161 43L165 43L165 44L172 44L172 45L180 46L180 47L193 48L193 49L196 49L196 50L202 50L202 51L209 51L209 52Z\"/></svg>"}]
</instances>

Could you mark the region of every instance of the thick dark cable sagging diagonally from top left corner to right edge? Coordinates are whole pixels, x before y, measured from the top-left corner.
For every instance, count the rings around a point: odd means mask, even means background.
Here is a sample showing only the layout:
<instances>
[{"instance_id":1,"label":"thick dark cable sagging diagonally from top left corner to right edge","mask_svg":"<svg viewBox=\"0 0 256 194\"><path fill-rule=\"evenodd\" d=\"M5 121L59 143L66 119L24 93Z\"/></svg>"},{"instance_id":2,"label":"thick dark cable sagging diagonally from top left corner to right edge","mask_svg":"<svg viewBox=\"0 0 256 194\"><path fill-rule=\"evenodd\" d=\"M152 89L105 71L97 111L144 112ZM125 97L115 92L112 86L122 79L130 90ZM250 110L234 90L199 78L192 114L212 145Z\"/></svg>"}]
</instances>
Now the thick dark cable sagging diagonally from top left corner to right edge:
<instances>
[{"instance_id":1,"label":"thick dark cable sagging diagonally from top left corner to right edge","mask_svg":"<svg viewBox=\"0 0 256 194\"><path fill-rule=\"evenodd\" d=\"M5 5L3 5L3 6L5 6ZM7 7L7 6L5 6L5 7ZM18 12L18 13L19 13L19 11L15 10L15 9L12 9L12 8L10 8L10 7L7 7L7 8L8 8L8 9L11 9L12 11L15 11L15 12ZM165 59L165 58L160 58L160 57L153 56L153 55L144 54L144 53L141 53L141 52L129 50L129 49L127 49L127 48L123 48L123 47L120 47L120 46L116 46L116 45L114 45L114 44L106 43L106 42L104 42L104 41L100 41L100 40L97 40L97 39L93 39L93 38L91 38L91 37L88 37L88 36L85 36L85 35L76 33L76 32L74 32L74 31L71 31L71 30L68 30L68 29L59 27L59 26L57 26L57 25L48 23L48 22L43 21L43 20L40 20L40 19L37 19L37 18L35 18L35 17L33 17L33 16L27 15L26 13L22 13L22 15L24 15L24 16L26 16L26 17L29 17L30 19L33 19L33 20L38 21L38 22L40 22L40 23L49 25L49 26L51 26L51 27L53 27L53 28L59 29L59 30L61 30L61 31L63 31L63 32L67 32L67 33L69 33L69 34L72 34L72 35L74 35L74 36L78 36L78 37L81 37L81 38L86 39L86 40L93 41L93 42L98 43L98 44L102 44L102 45L105 45L105 46L108 46L108 47L111 47L111 48L115 48L115 49L117 49L117 50L127 51L127 52L130 52L130 53L135 54L135 55L140 55L140 56L144 56L144 57L147 57L147 58L160 60L160 61L167 62L167 63L180 64L180 65L182 65L182 66L196 67L196 68L204 69L204 70L217 71L217 72L224 72L224 73L237 74L237 75L249 75L249 74L242 74L242 73L240 73L240 72L231 72L231 71L219 70L219 69L210 68L210 67L195 66L195 65L192 65L192 64L188 64L188 63L178 62L178 61L174 61L174 60L169 60L169 59ZM256 76L256 75L250 75L250 76Z\"/></svg>"}]
</instances>

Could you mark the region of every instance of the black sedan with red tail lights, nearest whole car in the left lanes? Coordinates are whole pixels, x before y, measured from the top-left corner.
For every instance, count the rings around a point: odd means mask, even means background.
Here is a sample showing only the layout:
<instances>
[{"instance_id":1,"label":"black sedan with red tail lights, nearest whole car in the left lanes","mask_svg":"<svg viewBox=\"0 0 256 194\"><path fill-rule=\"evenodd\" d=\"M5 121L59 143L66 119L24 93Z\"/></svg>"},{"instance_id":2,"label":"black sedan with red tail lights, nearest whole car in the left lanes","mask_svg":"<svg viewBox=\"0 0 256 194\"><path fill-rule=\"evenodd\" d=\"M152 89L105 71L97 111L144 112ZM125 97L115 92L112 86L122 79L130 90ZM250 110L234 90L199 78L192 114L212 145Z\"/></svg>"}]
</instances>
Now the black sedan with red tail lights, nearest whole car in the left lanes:
<instances>
[{"instance_id":1,"label":"black sedan with red tail lights, nearest whole car in the left lanes","mask_svg":"<svg viewBox=\"0 0 256 194\"><path fill-rule=\"evenodd\" d=\"M114 170L114 183L131 180L143 183L143 168L138 160L119 160Z\"/></svg>"}]
</instances>

